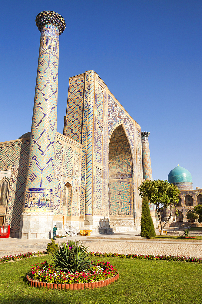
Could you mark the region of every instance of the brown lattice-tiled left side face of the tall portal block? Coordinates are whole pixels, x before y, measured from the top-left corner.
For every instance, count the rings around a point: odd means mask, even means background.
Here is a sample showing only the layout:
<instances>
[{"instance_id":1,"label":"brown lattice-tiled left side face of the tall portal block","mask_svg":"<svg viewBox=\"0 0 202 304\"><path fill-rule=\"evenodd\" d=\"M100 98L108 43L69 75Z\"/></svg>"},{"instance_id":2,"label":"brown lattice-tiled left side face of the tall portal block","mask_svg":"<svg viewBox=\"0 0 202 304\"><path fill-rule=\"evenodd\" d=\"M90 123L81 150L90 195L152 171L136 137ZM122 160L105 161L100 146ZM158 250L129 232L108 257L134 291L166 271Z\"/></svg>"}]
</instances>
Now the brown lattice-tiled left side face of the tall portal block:
<instances>
[{"instance_id":1,"label":"brown lattice-tiled left side face of the tall portal block","mask_svg":"<svg viewBox=\"0 0 202 304\"><path fill-rule=\"evenodd\" d=\"M69 81L68 106L65 123L65 136L81 143L84 109L84 75Z\"/></svg>"}]
</instances>

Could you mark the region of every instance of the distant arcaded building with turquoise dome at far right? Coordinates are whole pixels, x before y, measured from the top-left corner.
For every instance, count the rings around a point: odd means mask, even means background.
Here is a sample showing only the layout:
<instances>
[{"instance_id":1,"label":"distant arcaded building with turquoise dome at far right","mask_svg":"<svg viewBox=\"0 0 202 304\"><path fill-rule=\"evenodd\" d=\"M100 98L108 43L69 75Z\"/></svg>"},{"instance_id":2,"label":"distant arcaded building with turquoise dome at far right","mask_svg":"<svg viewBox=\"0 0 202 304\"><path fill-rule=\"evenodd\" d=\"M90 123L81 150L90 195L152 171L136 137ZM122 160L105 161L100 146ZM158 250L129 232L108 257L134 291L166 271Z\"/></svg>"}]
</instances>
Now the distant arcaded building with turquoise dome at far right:
<instances>
[{"instance_id":1,"label":"distant arcaded building with turquoise dome at far right","mask_svg":"<svg viewBox=\"0 0 202 304\"><path fill-rule=\"evenodd\" d=\"M168 174L168 181L169 183L176 185L180 190L179 202L176 206L178 215L176 215L176 212L173 209L170 221L188 222L187 212L193 211L194 206L202 205L202 190L199 187L196 187L196 190L193 190L190 172L187 169L180 167L179 164ZM162 212L163 220L167 220L168 216L168 210L164 210L164 212Z\"/></svg>"}]
</instances>

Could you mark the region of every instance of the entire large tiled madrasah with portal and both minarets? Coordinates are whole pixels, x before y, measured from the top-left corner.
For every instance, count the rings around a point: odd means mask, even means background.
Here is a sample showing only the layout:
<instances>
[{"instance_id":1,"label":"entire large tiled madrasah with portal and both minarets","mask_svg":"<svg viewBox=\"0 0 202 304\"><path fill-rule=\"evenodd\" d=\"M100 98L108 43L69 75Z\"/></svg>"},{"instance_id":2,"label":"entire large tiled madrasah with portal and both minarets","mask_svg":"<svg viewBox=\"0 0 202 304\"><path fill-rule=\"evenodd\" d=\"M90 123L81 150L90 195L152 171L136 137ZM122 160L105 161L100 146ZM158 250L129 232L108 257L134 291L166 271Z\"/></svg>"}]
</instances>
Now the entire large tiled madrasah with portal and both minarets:
<instances>
[{"instance_id":1,"label":"entire large tiled madrasah with portal and both minarets","mask_svg":"<svg viewBox=\"0 0 202 304\"><path fill-rule=\"evenodd\" d=\"M70 78L64 132L56 132L59 35L66 24L44 11L36 25L31 133L0 143L0 224L23 239L48 238L54 224L59 234L65 225L92 233L111 232L110 225L139 229L138 187L152 180L149 132L141 132L94 71Z\"/></svg>"}]
</instances>

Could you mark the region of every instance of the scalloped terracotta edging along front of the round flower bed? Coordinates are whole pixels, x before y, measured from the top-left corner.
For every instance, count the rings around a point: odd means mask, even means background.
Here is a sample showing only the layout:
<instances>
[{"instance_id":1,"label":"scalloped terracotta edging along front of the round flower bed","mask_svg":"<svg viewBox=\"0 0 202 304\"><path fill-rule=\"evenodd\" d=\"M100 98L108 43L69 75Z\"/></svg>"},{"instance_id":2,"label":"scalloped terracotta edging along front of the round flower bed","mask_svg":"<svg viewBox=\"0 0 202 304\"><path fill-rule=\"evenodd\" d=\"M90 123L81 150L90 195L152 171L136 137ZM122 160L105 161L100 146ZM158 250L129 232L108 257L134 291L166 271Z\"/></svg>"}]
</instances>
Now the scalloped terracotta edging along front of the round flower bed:
<instances>
[{"instance_id":1,"label":"scalloped terracotta edging along front of the round flower bed","mask_svg":"<svg viewBox=\"0 0 202 304\"><path fill-rule=\"evenodd\" d=\"M58 284L58 283L46 283L46 282L40 282L31 280L29 276L27 275L27 280L29 282L29 285L31 287L44 287L48 289L70 289L70 290L81 290L81 289L94 289L94 288L100 288L103 286L108 286L111 283L114 283L119 278L119 273L117 273L114 277L109 278L104 281L96 281L91 283L72 283L72 284Z\"/></svg>"}]
</instances>

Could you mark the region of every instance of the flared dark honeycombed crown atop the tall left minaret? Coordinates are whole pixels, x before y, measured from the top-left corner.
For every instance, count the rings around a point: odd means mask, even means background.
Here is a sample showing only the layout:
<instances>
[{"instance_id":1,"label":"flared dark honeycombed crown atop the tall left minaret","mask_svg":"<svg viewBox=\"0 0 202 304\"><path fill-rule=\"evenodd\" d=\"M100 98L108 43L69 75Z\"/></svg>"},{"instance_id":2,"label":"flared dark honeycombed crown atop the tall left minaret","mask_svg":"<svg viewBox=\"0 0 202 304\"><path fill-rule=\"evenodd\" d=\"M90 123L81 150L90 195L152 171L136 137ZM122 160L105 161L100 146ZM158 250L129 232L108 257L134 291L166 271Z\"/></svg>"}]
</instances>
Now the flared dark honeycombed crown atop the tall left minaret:
<instances>
[{"instance_id":1,"label":"flared dark honeycombed crown atop the tall left minaret","mask_svg":"<svg viewBox=\"0 0 202 304\"><path fill-rule=\"evenodd\" d=\"M64 18L61 15L59 15L58 13L50 12L50 11L40 12L36 16L35 21L36 21L36 26L38 27L40 32L41 32L42 26L44 26L46 24L53 24L59 29L59 33L61 35L61 33L63 33L63 31L66 27Z\"/></svg>"}]
</instances>

